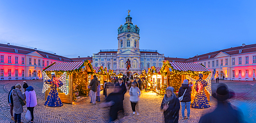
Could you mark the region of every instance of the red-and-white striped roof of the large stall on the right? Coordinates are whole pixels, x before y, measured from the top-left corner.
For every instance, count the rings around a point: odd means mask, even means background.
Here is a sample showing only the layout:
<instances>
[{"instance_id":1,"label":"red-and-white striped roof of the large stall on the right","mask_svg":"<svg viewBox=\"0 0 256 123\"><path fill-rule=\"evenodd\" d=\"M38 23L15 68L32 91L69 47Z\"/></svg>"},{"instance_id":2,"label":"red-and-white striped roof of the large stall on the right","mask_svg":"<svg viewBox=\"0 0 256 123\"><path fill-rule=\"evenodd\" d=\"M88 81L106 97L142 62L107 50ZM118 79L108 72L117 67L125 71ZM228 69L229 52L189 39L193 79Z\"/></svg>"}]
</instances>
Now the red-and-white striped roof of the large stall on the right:
<instances>
[{"instance_id":1,"label":"red-and-white striped roof of the large stall on the right","mask_svg":"<svg viewBox=\"0 0 256 123\"><path fill-rule=\"evenodd\" d=\"M170 64L174 67L175 70L179 71L209 71L205 67L203 67L200 64L195 63L176 63L176 62L170 62Z\"/></svg>"}]
</instances>

